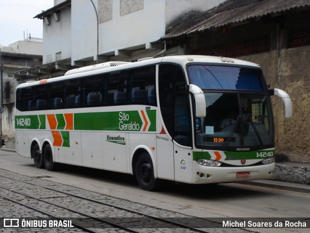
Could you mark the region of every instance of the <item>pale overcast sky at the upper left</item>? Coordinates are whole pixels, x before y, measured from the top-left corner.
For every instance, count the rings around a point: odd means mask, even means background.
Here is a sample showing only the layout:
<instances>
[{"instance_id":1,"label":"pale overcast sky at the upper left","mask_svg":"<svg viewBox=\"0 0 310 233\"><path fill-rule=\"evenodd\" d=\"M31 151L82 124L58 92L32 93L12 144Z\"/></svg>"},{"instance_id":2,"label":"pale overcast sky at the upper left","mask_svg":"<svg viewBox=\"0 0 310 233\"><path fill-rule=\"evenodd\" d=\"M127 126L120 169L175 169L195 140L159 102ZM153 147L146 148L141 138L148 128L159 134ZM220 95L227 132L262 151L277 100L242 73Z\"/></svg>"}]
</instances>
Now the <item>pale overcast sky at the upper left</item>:
<instances>
[{"instance_id":1,"label":"pale overcast sky at the upper left","mask_svg":"<svg viewBox=\"0 0 310 233\"><path fill-rule=\"evenodd\" d=\"M24 40L24 31L25 39L43 38L43 20L33 17L53 6L54 0L0 0L0 45Z\"/></svg>"}]
</instances>

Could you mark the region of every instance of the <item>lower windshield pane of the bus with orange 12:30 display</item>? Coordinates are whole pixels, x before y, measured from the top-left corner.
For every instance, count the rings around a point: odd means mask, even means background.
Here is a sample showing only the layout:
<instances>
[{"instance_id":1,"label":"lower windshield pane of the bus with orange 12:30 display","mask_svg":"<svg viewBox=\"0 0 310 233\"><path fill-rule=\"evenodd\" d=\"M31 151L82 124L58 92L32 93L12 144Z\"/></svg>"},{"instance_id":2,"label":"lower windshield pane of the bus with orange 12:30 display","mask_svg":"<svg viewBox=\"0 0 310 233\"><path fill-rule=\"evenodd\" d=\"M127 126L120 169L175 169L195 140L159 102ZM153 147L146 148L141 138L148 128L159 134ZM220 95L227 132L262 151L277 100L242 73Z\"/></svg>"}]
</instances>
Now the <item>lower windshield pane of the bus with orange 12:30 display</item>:
<instances>
[{"instance_id":1,"label":"lower windshield pane of the bus with orange 12:30 display","mask_svg":"<svg viewBox=\"0 0 310 233\"><path fill-rule=\"evenodd\" d=\"M273 146L274 126L269 96L220 92L204 95L206 117L195 121L198 146L220 146L225 150Z\"/></svg>"}]
</instances>

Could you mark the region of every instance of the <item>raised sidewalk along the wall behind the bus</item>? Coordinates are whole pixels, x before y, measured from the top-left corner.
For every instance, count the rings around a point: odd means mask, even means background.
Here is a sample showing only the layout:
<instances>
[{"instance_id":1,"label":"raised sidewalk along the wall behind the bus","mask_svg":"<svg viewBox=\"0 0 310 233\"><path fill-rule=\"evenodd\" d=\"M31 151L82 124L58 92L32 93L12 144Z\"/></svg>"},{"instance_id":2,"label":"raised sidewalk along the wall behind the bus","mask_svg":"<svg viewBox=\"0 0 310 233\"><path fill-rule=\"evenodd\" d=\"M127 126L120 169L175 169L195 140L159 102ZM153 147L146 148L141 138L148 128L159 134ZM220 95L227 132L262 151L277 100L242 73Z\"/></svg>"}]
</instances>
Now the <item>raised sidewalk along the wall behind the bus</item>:
<instances>
[{"instance_id":1,"label":"raised sidewalk along the wall behind the bus","mask_svg":"<svg viewBox=\"0 0 310 233\"><path fill-rule=\"evenodd\" d=\"M0 150L16 153L15 148L2 147ZM240 184L310 193L310 164L276 163L271 180L244 181Z\"/></svg>"}]
</instances>

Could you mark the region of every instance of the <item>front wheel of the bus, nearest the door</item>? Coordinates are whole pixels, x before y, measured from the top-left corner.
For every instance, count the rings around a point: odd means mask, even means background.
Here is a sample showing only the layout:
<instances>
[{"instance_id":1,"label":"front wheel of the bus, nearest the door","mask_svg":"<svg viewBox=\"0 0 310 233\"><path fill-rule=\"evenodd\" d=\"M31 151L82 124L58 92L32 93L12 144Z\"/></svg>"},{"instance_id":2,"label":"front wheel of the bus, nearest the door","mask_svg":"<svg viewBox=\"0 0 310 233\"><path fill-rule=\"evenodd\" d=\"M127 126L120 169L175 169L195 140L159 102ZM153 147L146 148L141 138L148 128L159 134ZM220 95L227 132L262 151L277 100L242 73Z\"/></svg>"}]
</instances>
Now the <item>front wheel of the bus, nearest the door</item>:
<instances>
[{"instance_id":1,"label":"front wheel of the bus, nearest the door","mask_svg":"<svg viewBox=\"0 0 310 233\"><path fill-rule=\"evenodd\" d=\"M154 166L148 153L142 153L136 162L136 178L139 186L146 191L154 191L159 186L159 180L154 177Z\"/></svg>"}]
</instances>

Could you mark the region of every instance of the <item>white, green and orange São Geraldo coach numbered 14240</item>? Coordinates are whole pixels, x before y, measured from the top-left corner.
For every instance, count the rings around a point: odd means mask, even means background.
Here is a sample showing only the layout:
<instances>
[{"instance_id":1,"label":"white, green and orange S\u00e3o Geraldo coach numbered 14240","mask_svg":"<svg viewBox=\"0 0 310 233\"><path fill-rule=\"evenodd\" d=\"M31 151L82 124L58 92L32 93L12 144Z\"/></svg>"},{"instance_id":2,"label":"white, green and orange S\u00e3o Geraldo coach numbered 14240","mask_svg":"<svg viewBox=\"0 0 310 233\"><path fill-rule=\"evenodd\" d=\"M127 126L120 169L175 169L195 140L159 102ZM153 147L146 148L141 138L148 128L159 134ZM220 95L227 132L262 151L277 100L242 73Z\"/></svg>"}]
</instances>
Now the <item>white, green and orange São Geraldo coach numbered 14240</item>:
<instances>
[{"instance_id":1,"label":"white, green and orange S\u00e3o Geraldo coach numbered 14240","mask_svg":"<svg viewBox=\"0 0 310 233\"><path fill-rule=\"evenodd\" d=\"M16 151L36 168L77 165L135 175L144 190L268 179L271 95L259 65L181 55L105 62L16 88Z\"/></svg>"}]
</instances>

